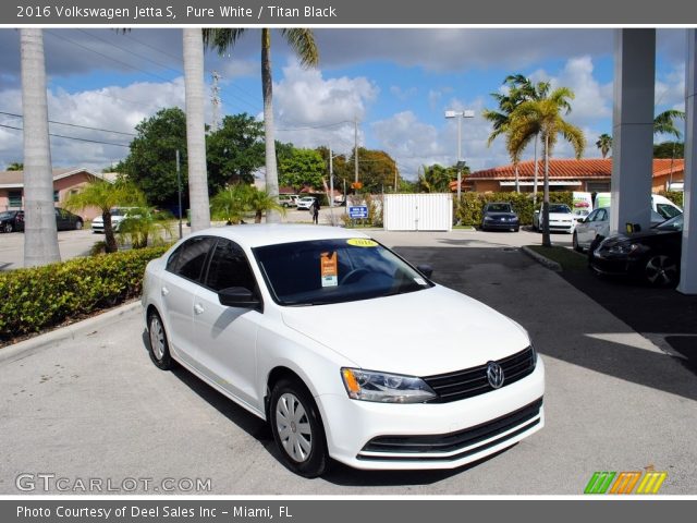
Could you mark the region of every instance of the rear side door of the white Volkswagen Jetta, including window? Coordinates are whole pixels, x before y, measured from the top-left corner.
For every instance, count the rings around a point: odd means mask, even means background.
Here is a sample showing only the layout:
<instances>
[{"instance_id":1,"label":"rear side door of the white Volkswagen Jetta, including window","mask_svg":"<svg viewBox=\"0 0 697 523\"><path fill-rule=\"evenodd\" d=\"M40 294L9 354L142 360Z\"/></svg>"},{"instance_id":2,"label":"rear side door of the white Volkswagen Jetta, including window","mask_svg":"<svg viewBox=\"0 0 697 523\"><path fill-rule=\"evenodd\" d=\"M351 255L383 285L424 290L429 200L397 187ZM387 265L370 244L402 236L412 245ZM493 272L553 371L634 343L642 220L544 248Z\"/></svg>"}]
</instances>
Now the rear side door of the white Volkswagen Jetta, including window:
<instances>
[{"instance_id":1,"label":"rear side door of the white Volkswagen Jetta, including window","mask_svg":"<svg viewBox=\"0 0 697 523\"><path fill-rule=\"evenodd\" d=\"M160 279L159 292L171 349L193 366L196 366L199 344L194 333L194 299L215 243L211 236L194 236L182 243L168 259Z\"/></svg>"}]
</instances>

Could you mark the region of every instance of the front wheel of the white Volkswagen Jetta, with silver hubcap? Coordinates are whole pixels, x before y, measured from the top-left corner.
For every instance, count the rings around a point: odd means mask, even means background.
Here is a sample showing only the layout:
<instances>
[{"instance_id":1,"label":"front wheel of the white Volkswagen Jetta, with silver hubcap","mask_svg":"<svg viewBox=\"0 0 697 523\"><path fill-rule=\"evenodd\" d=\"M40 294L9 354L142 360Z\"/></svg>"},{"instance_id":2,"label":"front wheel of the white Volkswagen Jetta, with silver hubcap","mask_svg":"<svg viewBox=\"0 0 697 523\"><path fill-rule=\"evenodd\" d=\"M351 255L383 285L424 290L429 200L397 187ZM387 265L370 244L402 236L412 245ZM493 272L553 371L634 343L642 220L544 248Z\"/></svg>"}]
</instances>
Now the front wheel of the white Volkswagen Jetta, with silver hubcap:
<instances>
[{"instance_id":1,"label":"front wheel of the white Volkswagen Jetta, with silver hubcap","mask_svg":"<svg viewBox=\"0 0 697 523\"><path fill-rule=\"evenodd\" d=\"M304 477L328 467L327 438L317 404L301 381L282 379L271 391L269 423L283 464Z\"/></svg>"}]
</instances>

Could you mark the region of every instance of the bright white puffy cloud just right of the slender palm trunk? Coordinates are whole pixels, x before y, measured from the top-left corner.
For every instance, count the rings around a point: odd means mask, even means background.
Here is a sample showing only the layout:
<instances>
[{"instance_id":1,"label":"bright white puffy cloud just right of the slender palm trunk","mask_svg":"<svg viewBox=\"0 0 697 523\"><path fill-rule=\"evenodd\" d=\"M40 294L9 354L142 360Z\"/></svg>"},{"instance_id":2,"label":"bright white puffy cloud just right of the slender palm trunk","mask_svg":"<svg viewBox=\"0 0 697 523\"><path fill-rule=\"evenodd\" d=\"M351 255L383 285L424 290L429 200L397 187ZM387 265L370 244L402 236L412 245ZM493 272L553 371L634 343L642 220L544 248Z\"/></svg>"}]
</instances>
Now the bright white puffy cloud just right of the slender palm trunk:
<instances>
[{"instance_id":1,"label":"bright white puffy cloud just right of the slender palm trunk","mask_svg":"<svg viewBox=\"0 0 697 523\"><path fill-rule=\"evenodd\" d=\"M354 119L363 121L379 88L368 78L325 78L319 70L292 62L273 87L277 139L298 147L332 147L348 151L354 144ZM359 144L364 144L359 137Z\"/></svg>"}]
</instances>

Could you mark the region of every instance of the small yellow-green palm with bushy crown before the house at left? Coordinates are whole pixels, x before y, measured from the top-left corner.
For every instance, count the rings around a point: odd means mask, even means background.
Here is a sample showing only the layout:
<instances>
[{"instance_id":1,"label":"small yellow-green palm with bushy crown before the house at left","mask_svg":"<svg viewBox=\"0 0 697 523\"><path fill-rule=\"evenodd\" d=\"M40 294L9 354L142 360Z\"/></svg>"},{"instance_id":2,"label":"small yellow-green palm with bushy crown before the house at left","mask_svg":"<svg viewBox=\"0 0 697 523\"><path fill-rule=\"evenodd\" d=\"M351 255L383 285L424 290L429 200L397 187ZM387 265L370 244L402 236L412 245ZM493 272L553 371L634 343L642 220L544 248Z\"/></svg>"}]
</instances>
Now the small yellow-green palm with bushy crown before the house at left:
<instances>
[{"instance_id":1,"label":"small yellow-green palm with bushy crown before the house at left","mask_svg":"<svg viewBox=\"0 0 697 523\"><path fill-rule=\"evenodd\" d=\"M98 180L85 185L80 193L70 195L63 205L68 210L82 210L87 207L97 207L101 210L101 218L105 221L106 251L115 253L119 246L111 226L111 209L118 206L144 207L145 196L127 182L112 184Z\"/></svg>"}]
</instances>

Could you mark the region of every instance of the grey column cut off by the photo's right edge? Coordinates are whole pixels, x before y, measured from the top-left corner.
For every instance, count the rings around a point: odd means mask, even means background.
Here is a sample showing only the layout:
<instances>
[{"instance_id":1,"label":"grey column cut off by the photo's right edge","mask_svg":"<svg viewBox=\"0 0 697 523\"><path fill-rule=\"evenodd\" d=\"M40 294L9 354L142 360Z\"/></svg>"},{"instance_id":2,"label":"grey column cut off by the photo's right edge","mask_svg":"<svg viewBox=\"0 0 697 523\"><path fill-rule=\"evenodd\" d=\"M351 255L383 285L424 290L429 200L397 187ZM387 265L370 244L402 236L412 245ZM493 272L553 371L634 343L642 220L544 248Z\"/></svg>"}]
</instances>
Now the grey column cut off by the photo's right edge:
<instances>
[{"instance_id":1,"label":"grey column cut off by the photo's right edge","mask_svg":"<svg viewBox=\"0 0 697 523\"><path fill-rule=\"evenodd\" d=\"M687 29L685 61L685 227L677 290L697 294L697 31ZM689 231L693 231L692 235Z\"/></svg>"}]
</instances>

